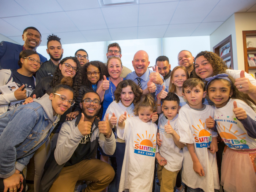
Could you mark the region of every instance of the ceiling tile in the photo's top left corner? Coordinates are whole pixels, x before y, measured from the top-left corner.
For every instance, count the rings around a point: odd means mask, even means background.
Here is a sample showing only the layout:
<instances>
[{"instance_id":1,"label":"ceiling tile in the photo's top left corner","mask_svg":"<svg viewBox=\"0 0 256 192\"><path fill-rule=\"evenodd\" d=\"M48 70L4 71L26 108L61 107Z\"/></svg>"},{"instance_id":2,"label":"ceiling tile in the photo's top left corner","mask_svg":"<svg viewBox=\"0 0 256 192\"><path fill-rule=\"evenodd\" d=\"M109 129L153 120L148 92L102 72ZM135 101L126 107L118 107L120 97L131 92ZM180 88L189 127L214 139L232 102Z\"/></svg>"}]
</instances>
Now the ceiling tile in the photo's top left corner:
<instances>
[{"instance_id":1,"label":"ceiling tile in the photo's top left corner","mask_svg":"<svg viewBox=\"0 0 256 192\"><path fill-rule=\"evenodd\" d=\"M19 16L19 15L28 15L29 13L24 10L18 3L14 0L1 0L0 6L0 18Z\"/></svg>"}]
</instances>

